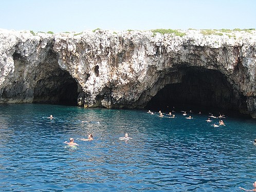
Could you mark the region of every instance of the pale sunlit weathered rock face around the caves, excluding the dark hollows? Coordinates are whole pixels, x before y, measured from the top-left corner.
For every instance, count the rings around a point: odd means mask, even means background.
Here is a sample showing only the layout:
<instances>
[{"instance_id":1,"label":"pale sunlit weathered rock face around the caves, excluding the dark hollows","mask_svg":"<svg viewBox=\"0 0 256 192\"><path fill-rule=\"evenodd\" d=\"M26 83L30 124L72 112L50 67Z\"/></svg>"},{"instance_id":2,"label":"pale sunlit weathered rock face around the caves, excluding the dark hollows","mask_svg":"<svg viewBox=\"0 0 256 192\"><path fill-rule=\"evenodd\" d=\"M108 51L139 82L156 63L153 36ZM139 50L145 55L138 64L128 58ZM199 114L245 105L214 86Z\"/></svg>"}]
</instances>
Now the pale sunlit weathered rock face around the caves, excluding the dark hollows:
<instances>
[{"instance_id":1,"label":"pale sunlit weathered rock face around the caves, excluding the dark hollows","mask_svg":"<svg viewBox=\"0 0 256 192\"><path fill-rule=\"evenodd\" d=\"M15 70L14 52L25 58L29 69L42 64L48 46L56 54L58 67L77 82L81 106L145 107L164 86L180 81L179 75L170 80L167 74L197 67L223 74L232 91L246 98L246 110L241 107L241 112L255 117L255 95L249 94L255 92L255 30L223 35L216 31L207 35L200 30L182 32L185 35L104 30L32 35L29 31L1 31L9 41L2 40L0 90L8 87L6 82ZM30 84L28 87L34 86Z\"/></svg>"}]
</instances>

